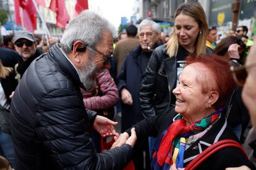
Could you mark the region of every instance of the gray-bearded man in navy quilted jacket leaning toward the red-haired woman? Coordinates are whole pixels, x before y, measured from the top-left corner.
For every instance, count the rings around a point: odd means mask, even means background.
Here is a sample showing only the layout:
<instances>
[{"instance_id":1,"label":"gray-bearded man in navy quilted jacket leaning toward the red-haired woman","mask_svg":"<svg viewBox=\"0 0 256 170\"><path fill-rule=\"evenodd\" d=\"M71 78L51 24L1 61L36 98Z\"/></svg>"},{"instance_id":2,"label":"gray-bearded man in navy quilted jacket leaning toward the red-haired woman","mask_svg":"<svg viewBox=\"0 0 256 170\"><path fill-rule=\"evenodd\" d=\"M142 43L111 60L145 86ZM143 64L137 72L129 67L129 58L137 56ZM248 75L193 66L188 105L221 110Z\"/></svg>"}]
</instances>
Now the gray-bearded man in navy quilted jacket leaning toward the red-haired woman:
<instances>
[{"instance_id":1,"label":"gray-bearded man in navy quilted jacket leaning toward the red-haired woman","mask_svg":"<svg viewBox=\"0 0 256 170\"><path fill-rule=\"evenodd\" d=\"M134 129L126 144L96 153L89 129L118 137L117 123L85 110L80 93L108 67L115 34L105 18L85 10L70 20L61 43L28 67L11 105L17 169L122 169L131 160Z\"/></svg>"}]
</instances>

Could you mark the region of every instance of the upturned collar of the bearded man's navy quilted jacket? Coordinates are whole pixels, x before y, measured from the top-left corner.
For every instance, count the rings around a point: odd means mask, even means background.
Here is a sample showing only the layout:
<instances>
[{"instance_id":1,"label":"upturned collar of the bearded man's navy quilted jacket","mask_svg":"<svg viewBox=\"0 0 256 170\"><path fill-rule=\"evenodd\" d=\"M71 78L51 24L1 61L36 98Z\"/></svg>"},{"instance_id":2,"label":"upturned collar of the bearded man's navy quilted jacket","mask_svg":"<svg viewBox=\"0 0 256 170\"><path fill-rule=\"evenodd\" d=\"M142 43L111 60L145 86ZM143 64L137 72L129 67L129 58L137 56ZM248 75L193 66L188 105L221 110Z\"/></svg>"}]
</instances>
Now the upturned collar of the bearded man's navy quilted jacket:
<instances>
[{"instance_id":1,"label":"upturned collar of the bearded man's navy quilted jacket","mask_svg":"<svg viewBox=\"0 0 256 170\"><path fill-rule=\"evenodd\" d=\"M73 65L72 62L68 59L67 55L64 54L63 51L61 51L61 48L59 47L59 44L55 44L49 49L48 54L52 57L53 60L55 60L57 63L59 63L59 67L70 78L74 79L75 83L79 86L85 89L82 83L82 79L79 76L79 72L77 68Z\"/></svg>"}]
</instances>

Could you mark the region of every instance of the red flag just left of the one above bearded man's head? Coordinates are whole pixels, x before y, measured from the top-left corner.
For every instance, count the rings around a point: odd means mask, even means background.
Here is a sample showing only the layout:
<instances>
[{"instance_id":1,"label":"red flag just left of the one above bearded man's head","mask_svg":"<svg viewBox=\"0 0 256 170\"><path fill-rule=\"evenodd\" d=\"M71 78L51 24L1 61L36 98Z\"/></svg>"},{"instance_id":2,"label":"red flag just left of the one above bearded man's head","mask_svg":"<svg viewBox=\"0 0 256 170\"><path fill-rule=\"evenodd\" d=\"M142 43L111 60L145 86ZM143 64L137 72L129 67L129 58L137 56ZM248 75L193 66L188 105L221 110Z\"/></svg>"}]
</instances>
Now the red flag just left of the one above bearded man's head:
<instances>
[{"instance_id":1,"label":"red flag just left of the one above bearded man's head","mask_svg":"<svg viewBox=\"0 0 256 170\"><path fill-rule=\"evenodd\" d=\"M51 0L49 9L56 13L56 25L65 28L69 21L69 14L67 13L64 0Z\"/></svg>"}]
</instances>

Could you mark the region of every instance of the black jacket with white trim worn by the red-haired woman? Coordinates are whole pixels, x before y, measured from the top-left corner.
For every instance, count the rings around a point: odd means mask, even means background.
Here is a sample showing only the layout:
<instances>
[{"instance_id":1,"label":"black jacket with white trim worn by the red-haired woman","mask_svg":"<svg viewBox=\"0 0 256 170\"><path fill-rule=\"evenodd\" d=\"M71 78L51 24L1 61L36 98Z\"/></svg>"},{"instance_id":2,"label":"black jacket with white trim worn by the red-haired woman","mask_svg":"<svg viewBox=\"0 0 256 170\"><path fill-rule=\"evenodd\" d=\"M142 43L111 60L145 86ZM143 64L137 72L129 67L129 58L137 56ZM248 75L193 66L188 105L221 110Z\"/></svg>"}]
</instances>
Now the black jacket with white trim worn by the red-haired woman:
<instances>
[{"instance_id":1,"label":"black jacket with white trim worn by the red-haired woman","mask_svg":"<svg viewBox=\"0 0 256 170\"><path fill-rule=\"evenodd\" d=\"M133 127L135 127L137 134L137 142L134 149L141 147L143 140L148 140L148 136L160 136L160 134L173 123L173 118L176 115L177 113L174 111L174 108L169 108L169 110L165 113L161 113L160 115L150 118L145 118L143 121L140 121L140 123L135 124ZM225 122L225 117L221 116L218 122L215 123L204 136L187 148L187 150L184 152L184 160L189 160L189 158L193 158L193 156L199 154L199 144L200 147L202 147L202 150L205 150L207 146L203 145L203 142L213 144L215 140L220 141L223 139L232 139L238 141L234 132L228 127L225 127ZM223 131L223 133L221 133L221 131ZM126 132L130 134L130 129L128 129ZM184 163L184 167L186 167L190 161ZM239 167L242 165L246 165L250 169L256 169L254 164L245 158L239 148L227 147L211 155L210 158L200 164L197 169L225 169L228 167Z\"/></svg>"}]
</instances>

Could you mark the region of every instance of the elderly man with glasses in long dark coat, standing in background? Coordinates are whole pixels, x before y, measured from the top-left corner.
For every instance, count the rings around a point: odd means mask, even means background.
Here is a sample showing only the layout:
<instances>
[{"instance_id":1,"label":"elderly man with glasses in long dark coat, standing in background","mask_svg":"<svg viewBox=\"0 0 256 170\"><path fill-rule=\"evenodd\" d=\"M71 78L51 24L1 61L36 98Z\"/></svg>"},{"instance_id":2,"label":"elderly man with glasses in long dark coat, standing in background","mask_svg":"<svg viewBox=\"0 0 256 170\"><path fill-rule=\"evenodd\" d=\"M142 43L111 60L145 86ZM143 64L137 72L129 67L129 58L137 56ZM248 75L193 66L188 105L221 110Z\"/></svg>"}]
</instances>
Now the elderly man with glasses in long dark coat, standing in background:
<instances>
[{"instance_id":1,"label":"elderly man with glasses in long dark coat, standing in background","mask_svg":"<svg viewBox=\"0 0 256 170\"><path fill-rule=\"evenodd\" d=\"M153 20L143 20L138 28L138 36L140 45L126 55L124 64L117 75L119 81L117 87L122 99L122 132L144 119L140 110L139 91L148 60L153 49L158 46L156 43L156 38L159 36L158 24ZM135 151L137 152L134 153L135 169L150 169L148 142ZM143 167L144 151L146 152L146 167Z\"/></svg>"}]
</instances>

